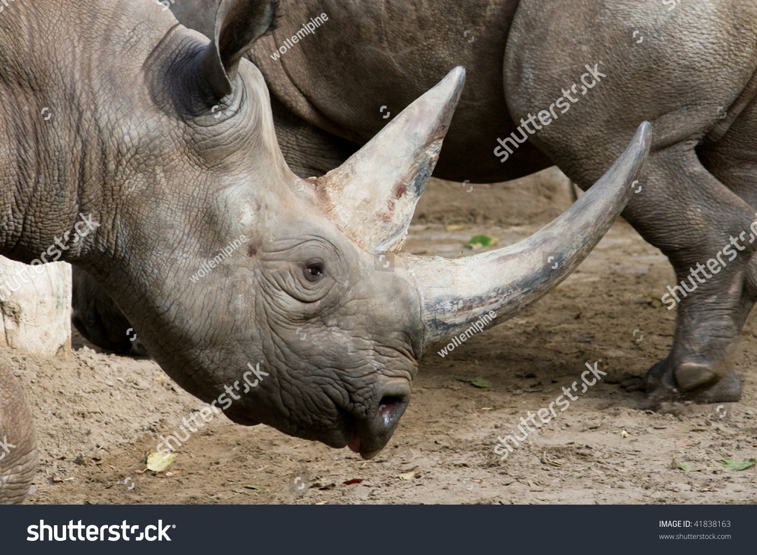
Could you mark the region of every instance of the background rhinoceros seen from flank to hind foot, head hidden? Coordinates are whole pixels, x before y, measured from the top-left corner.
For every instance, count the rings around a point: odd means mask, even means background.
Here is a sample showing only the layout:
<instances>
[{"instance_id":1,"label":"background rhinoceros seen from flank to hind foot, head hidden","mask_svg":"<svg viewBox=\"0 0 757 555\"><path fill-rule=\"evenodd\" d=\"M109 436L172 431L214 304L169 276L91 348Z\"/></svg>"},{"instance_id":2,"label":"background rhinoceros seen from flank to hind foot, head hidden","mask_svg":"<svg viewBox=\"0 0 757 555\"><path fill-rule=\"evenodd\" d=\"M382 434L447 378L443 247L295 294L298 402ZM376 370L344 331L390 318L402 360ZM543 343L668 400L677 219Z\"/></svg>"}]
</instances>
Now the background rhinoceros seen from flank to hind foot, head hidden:
<instances>
[{"instance_id":1,"label":"background rhinoceros seen from flank to hind foot, head hidden","mask_svg":"<svg viewBox=\"0 0 757 555\"><path fill-rule=\"evenodd\" d=\"M435 171L440 178L503 181L554 163L586 190L639 122L652 122L642 191L625 219L668 256L678 282L731 237L741 237L744 248L682 299L673 347L650 369L646 390L653 402L737 401L734 358L757 300L757 242L749 243L757 220L757 5L669 7L637 0L282 0L279 29L248 57L276 99L282 153L302 176L341 163L385 125L381 106L396 113L456 65L466 67L467 82ZM206 2L182 0L174 9L188 26L207 26ZM329 20L313 35L279 60L269 57L321 13ZM580 95L584 65L600 61L607 77ZM496 139L528 113L549 110L573 83L579 99L571 110L500 163Z\"/></svg>"}]
</instances>

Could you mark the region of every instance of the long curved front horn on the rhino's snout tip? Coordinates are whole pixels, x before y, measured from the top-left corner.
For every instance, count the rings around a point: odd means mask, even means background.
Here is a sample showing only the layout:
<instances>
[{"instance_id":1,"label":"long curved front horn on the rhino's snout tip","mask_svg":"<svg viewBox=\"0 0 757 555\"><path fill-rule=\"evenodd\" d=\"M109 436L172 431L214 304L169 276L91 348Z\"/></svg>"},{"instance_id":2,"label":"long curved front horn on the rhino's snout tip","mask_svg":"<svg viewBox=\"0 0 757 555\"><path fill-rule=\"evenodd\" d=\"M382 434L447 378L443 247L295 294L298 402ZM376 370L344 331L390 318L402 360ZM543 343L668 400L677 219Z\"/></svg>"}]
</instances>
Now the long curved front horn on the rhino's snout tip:
<instances>
[{"instance_id":1,"label":"long curved front horn on the rhino's snout tip","mask_svg":"<svg viewBox=\"0 0 757 555\"><path fill-rule=\"evenodd\" d=\"M404 265L416 281L423 350L459 334L467 339L484 326L500 324L568 277L631 198L632 183L650 151L651 136L649 122L643 122L603 178L528 239L463 259L402 256L395 271Z\"/></svg>"}]
</instances>

